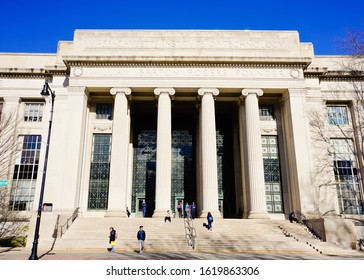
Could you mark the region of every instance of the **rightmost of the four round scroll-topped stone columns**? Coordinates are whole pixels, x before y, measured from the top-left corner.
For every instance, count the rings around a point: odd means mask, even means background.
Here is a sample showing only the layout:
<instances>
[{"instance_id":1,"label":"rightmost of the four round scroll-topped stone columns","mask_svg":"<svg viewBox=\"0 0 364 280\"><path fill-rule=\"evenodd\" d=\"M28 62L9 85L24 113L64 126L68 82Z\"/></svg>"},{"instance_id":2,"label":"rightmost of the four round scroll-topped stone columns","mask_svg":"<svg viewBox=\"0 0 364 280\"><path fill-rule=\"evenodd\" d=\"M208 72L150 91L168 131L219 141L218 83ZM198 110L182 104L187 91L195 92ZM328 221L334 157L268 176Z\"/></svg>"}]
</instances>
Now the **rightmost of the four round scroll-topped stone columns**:
<instances>
[{"instance_id":1,"label":"rightmost of the four round scroll-topped stone columns","mask_svg":"<svg viewBox=\"0 0 364 280\"><path fill-rule=\"evenodd\" d=\"M248 180L250 193L249 219L269 219L266 206L263 150L260 135L258 96L261 89L243 89L245 96L246 139L248 152Z\"/></svg>"}]
</instances>

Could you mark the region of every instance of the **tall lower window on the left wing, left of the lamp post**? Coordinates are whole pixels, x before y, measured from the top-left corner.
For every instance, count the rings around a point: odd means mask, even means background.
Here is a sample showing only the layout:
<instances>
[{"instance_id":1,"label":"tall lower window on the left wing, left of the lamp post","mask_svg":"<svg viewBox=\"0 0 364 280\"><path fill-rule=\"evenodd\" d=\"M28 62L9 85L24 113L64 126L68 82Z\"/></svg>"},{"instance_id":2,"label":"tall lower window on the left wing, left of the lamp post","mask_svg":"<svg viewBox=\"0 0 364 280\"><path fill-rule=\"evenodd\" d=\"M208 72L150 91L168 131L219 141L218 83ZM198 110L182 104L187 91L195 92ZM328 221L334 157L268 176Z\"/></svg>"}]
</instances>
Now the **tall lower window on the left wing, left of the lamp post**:
<instances>
[{"instance_id":1,"label":"tall lower window on the left wing, left of the lamp post","mask_svg":"<svg viewBox=\"0 0 364 280\"><path fill-rule=\"evenodd\" d=\"M40 135L19 136L9 203L12 210L32 210L41 143Z\"/></svg>"}]
</instances>

